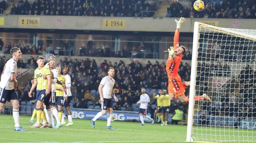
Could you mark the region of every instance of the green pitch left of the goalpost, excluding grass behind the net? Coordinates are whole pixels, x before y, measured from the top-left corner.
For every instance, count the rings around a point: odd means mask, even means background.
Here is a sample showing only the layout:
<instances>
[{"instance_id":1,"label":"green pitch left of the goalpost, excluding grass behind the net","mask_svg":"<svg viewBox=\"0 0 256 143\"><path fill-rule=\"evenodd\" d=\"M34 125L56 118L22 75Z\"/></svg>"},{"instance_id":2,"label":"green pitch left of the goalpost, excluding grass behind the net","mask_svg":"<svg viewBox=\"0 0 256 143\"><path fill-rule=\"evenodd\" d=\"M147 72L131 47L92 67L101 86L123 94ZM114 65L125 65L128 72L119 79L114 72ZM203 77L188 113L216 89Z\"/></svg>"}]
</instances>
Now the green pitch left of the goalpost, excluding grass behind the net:
<instances>
[{"instance_id":1,"label":"green pitch left of the goalpost, excluding grass behind the net","mask_svg":"<svg viewBox=\"0 0 256 143\"><path fill-rule=\"evenodd\" d=\"M97 120L95 128L90 120L73 119L73 126L54 128L30 128L30 116L20 116L20 125L27 132L14 131L12 115L0 115L0 143L159 143L186 141L186 125L161 126L139 122L111 122L116 130L107 130L106 120ZM66 119L67 121L67 119ZM35 122L35 119L34 119Z\"/></svg>"}]
</instances>

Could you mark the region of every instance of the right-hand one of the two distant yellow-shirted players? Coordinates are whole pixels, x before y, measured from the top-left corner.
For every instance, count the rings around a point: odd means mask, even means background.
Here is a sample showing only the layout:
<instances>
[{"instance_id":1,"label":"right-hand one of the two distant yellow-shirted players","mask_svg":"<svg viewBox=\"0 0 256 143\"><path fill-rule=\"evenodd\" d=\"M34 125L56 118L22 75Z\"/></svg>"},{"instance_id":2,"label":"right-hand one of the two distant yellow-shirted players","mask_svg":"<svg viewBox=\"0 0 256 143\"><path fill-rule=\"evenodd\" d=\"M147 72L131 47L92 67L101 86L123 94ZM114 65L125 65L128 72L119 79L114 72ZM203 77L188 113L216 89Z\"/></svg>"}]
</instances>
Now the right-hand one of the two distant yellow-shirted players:
<instances>
[{"instance_id":1,"label":"right-hand one of the two distant yellow-shirted players","mask_svg":"<svg viewBox=\"0 0 256 143\"><path fill-rule=\"evenodd\" d=\"M169 98L169 95L166 94L166 90L164 90L164 95L161 96L161 101L162 101L162 114L163 114L163 120L164 120L164 123L162 124L163 125L166 125L167 126L167 121L168 121L168 112L169 112L169 108L170 108L170 105L171 105L171 100Z\"/></svg>"}]
</instances>

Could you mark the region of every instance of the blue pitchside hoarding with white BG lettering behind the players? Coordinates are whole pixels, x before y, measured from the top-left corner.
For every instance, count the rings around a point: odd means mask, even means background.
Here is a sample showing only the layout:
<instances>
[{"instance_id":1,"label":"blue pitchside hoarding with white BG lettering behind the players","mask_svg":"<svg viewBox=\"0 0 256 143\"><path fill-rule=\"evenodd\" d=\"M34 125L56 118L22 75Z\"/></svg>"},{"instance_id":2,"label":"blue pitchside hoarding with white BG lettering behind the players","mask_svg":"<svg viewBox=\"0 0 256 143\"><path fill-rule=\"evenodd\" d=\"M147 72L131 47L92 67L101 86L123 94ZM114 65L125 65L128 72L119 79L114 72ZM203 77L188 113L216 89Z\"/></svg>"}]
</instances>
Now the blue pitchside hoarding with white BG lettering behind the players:
<instances>
[{"instance_id":1,"label":"blue pitchside hoarding with white BG lettering behind the players","mask_svg":"<svg viewBox=\"0 0 256 143\"><path fill-rule=\"evenodd\" d=\"M99 111L90 111L90 110L71 110L72 112L72 118L77 119L92 119ZM149 117L151 117L150 114L147 114ZM117 121L131 121L131 120L137 120L139 119L139 113L123 113L123 112L113 112L112 117L114 117L114 120ZM102 115L98 120L107 120L107 113L105 115ZM150 122L150 120L145 120L146 122Z\"/></svg>"}]
</instances>

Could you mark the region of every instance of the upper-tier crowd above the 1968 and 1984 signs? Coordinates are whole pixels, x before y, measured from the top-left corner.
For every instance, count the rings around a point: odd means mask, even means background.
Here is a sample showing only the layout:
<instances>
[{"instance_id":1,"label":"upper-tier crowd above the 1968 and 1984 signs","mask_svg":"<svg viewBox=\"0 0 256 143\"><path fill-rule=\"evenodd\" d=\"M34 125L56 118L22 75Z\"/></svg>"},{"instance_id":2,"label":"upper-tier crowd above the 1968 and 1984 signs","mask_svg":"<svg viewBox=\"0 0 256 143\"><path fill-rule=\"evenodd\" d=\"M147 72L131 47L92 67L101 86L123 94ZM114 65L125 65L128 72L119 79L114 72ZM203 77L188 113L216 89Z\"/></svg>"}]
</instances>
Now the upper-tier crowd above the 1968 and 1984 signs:
<instances>
[{"instance_id":1,"label":"upper-tier crowd above the 1968 and 1984 signs","mask_svg":"<svg viewBox=\"0 0 256 143\"><path fill-rule=\"evenodd\" d=\"M145 11L141 13L141 11ZM20 0L12 5L11 15L119 16L151 17L154 0Z\"/></svg>"}]
</instances>

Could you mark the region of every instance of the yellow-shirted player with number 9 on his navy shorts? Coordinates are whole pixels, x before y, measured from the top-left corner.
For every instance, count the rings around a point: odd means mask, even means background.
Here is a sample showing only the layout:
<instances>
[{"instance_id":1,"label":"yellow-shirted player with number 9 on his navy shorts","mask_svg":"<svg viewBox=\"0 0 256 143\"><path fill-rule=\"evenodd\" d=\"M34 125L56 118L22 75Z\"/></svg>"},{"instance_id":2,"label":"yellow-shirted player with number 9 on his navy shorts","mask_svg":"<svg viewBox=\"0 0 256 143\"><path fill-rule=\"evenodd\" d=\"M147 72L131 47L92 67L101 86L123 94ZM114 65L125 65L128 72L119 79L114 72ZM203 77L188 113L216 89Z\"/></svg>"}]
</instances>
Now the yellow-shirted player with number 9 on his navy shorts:
<instances>
[{"instance_id":1,"label":"yellow-shirted player with number 9 on his navy shorts","mask_svg":"<svg viewBox=\"0 0 256 143\"><path fill-rule=\"evenodd\" d=\"M36 104L37 122L34 125L30 126L32 128L41 127L41 123L40 123L41 114L44 119L43 127L47 127L49 125L44 114L43 104L44 104L44 101L47 101L47 98L49 98L49 96L47 95L50 93L50 90L51 90L51 82L48 82L48 81L52 80L51 72L49 68L44 66L44 57L38 57L37 64L38 64L38 68L35 69L34 83L30 89L30 92L28 93L28 96L32 97L32 92L37 86L37 96L38 96L38 100ZM43 75L47 77L47 80L43 78Z\"/></svg>"}]
</instances>

